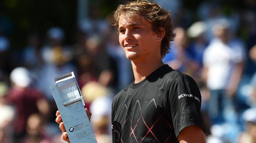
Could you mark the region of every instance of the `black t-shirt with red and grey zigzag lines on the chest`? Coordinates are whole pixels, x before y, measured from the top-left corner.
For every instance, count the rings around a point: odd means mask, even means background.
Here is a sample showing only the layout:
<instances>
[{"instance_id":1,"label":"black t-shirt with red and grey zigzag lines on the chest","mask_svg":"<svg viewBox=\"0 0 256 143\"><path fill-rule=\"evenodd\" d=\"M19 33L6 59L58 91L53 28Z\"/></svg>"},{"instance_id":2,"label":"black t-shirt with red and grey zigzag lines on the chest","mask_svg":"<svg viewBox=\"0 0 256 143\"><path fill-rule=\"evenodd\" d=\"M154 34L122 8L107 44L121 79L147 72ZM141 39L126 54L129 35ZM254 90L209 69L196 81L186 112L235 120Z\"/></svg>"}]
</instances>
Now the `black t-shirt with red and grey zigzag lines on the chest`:
<instances>
[{"instance_id":1,"label":"black t-shirt with red and grey zigzag lines on the chest","mask_svg":"<svg viewBox=\"0 0 256 143\"><path fill-rule=\"evenodd\" d=\"M113 143L178 143L183 128L202 128L200 108L195 81L163 65L114 97Z\"/></svg>"}]
</instances>

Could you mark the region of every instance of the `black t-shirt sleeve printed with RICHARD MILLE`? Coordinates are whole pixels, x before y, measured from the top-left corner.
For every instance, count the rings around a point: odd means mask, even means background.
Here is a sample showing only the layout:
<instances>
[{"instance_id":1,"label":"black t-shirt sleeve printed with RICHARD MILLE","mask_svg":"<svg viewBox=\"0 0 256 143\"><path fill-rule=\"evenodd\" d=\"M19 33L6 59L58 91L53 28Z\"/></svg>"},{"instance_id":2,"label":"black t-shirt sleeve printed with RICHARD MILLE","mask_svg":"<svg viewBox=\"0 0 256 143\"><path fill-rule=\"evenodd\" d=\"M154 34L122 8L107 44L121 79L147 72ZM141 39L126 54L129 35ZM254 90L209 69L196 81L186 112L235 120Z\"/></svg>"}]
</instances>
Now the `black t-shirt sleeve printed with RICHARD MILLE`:
<instances>
[{"instance_id":1,"label":"black t-shirt sleeve printed with RICHARD MILLE","mask_svg":"<svg viewBox=\"0 0 256 143\"><path fill-rule=\"evenodd\" d=\"M180 131L191 125L202 128L201 94L195 81L187 75L173 80L169 91L169 115L174 125L176 137Z\"/></svg>"}]
</instances>

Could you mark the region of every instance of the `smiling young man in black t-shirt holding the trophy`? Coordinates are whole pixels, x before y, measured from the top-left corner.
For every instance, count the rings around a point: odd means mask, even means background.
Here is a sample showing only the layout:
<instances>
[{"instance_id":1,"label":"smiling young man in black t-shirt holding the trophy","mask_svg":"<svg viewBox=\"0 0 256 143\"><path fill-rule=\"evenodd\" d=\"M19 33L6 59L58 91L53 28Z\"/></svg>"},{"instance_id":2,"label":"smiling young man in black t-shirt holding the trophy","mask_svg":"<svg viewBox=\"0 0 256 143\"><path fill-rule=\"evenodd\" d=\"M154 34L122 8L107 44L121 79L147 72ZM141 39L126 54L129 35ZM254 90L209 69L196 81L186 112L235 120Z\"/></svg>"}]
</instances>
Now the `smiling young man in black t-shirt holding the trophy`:
<instances>
[{"instance_id":1,"label":"smiling young man in black t-shirt holding the trophy","mask_svg":"<svg viewBox=\"0 0 256 143\"><path fill-rule=\"evenodd\" d=\"M169 12L138 0L119 5L114 19L135 81L113 99L113 143L205 143L195 81L162 61L175 37Z\"/></svg>"}]
</instances>

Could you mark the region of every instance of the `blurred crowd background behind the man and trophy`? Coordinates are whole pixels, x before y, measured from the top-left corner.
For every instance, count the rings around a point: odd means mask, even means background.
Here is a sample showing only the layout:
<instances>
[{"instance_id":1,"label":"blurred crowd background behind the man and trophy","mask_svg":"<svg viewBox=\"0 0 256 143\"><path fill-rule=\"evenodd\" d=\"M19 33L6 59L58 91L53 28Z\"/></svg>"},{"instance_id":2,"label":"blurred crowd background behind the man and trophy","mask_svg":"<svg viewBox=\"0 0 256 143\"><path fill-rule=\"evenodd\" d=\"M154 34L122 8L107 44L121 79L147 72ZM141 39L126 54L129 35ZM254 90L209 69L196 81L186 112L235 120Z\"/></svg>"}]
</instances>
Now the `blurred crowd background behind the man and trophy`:
<instances>
[{"instance_id":1,"label":"blurred crowd background behind the man and trophy","mask_svg":"<svg viewBox=\"0 0 256 143\"><path fill-rule=\"evenodd\" d=\"M202 94L207 143L256 143L256 1L155 0L177 36L163 61ZM0 1L0 143L65 143L49 86L74 71L99 143L133 81L111 25L125 0Z\"/></svg>"}]
</instances>

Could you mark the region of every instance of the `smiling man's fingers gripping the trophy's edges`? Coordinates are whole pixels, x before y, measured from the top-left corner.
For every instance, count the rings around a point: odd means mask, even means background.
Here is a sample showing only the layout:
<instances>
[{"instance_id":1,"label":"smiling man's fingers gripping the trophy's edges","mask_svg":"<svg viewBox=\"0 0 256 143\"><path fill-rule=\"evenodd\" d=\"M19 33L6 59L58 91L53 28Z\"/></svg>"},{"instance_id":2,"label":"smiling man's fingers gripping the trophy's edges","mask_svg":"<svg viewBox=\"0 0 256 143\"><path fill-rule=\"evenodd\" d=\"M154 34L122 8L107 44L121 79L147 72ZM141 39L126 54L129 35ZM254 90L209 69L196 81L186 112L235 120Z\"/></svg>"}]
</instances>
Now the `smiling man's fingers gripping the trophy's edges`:
<instances>
[{"instance_id":1,"label":"smiling man's fingers gripping the trophy's edges","mask_svg":"<svg viewBox=\"0 0 256 143\"><path fill-rule=\"evenodd\" d=\"M91 112L87 108L85 108L85 111L86 111L86 114L87 114L89 120L91 120ZM68 143L70 143L69 138L67 136L66 129L64 127L64 123L62 122L61 115L60 115L59 111L56 111L56 119L55 119L55 121L59 124L59 128L61 129L61 132L62 132L61 138L64 141L67 141Z\"/></svg>"}]
</instances>

